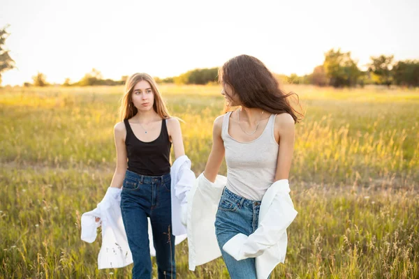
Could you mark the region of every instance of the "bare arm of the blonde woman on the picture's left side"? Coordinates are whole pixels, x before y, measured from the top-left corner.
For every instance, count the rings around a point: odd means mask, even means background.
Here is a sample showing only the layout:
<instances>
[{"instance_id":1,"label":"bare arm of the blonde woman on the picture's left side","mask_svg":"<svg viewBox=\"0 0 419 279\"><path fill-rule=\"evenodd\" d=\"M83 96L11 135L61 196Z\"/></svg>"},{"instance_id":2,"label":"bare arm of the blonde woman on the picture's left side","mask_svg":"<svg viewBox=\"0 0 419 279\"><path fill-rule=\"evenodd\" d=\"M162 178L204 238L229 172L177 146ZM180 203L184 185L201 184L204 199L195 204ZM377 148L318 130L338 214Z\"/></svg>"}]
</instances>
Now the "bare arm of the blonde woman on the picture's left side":
<instances>
[{"instance_id":1,"label":"bare arm of the blonde woman on the picture's left side","mask_svg":"<svg viewBox=\"0 0 419 279\"><path fill-rule=\"evenodd\" d=\"M121 188L125 179L125 172L128 166L126 157L125 137L126 129L124 122L119 122L114 127L115 147L117 149L117 167L112 177L110 187Z\"/></svg>"}]
</instances>

